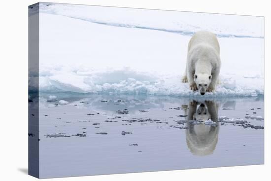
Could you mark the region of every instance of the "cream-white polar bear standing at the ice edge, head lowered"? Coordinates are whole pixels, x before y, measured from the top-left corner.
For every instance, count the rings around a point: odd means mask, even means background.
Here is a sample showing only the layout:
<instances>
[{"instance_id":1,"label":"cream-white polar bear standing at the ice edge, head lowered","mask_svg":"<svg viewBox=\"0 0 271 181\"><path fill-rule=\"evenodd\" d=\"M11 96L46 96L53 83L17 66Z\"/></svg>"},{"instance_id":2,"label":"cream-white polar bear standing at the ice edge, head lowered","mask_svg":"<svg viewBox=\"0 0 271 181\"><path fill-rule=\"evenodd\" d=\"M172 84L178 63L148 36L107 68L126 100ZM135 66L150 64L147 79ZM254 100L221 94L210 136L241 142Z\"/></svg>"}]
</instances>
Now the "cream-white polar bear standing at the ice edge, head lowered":
<instances>
[{"instance_id":1,"label":"cream-white polar bear standing at the ice edge, head lowered","mask_svg":"<svg viewBox=\"0 0 271 181\"><path fill-rule=\"evenodd\" d=\"M220 72L219 43L207 31L197 32L189 41L185 75L182 82L189 82L191 90L201 95L213 92Z\"/></svg>"}]
</instances>

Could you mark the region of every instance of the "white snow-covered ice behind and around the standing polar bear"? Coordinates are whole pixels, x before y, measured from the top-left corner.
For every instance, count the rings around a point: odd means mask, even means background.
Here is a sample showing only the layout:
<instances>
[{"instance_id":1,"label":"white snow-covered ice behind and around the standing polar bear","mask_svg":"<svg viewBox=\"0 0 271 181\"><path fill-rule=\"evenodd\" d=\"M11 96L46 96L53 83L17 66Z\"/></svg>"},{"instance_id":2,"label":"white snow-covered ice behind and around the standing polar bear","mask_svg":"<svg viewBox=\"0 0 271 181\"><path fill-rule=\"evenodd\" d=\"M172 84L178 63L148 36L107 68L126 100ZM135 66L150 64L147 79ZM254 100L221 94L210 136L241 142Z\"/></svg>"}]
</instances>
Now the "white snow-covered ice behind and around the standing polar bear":
<instances>
[{"instance_id":1,"label":"white snow-covered ice behind and around the standing polar bear","mask_svg":"<svg viewBox=\"0 0 271 181\"><path fill-rule=\"evenodd\" d=\"M105 9L107 13L103 13ZM133 18L138 11L145 14L143 19ZM114 17L108 16L111 13ZM153 13L156 16L148 16ZM202 16L206 16L204 23ZM218 22L224 16L227 18ZM39 88L53 92L199 96L181 82L181 77L189 39L197 31L208 30L218 36L222 68L216 92L205 97L263 95L262 20L41 3ZM248 26L251 22L255 26Z\"/></svg>"}]
</instances>

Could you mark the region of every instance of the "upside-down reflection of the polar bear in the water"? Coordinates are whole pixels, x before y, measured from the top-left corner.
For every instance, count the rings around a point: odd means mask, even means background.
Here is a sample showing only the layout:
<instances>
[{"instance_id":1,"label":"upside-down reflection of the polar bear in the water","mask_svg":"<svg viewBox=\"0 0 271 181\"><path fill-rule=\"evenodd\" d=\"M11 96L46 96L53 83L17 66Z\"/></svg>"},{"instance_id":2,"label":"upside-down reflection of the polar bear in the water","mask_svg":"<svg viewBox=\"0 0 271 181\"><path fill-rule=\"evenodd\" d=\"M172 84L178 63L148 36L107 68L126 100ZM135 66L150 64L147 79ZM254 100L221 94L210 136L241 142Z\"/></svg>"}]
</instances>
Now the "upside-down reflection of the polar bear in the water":
<instances>
[{"instance_id":1,"label":"upside-down reflection of the polar bear in the water","mask_svg":"<svg viewBox=\"0 0 271 181\"><path fill-rule=\"evenodd\" d=\"M199 103L190 102L189 106L183 105L189 128L186 130L186 144L190 151L199 156L212 154L218 140L219 124L217 126L205 125L204 121L211 119L218 121L218 104L211 101ZM187 109L189 108L189 109ZM203 121L201 124L193 124L191 120Z\"/></svg>"}]
</instances>

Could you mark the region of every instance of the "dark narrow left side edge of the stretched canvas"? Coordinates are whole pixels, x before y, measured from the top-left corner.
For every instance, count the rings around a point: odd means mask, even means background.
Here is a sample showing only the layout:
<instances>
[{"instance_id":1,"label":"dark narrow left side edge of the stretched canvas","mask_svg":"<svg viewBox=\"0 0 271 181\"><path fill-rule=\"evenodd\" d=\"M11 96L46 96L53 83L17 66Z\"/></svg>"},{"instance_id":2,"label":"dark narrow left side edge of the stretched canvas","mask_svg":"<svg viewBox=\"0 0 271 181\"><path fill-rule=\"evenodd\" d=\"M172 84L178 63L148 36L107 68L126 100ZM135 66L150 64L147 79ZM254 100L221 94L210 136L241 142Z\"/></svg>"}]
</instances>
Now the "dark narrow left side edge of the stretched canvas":
<instances>
[{"instance_id":1,"label":"dark narrow left side edge of the stretched canvas","mask_svg":"<svg viewBox=\"0 0 271 181\"><path fill-rule=\"evenodd\" d=\"M39 3L28 10L28 174L39 178Z\"/></svg>"}]
</instances>

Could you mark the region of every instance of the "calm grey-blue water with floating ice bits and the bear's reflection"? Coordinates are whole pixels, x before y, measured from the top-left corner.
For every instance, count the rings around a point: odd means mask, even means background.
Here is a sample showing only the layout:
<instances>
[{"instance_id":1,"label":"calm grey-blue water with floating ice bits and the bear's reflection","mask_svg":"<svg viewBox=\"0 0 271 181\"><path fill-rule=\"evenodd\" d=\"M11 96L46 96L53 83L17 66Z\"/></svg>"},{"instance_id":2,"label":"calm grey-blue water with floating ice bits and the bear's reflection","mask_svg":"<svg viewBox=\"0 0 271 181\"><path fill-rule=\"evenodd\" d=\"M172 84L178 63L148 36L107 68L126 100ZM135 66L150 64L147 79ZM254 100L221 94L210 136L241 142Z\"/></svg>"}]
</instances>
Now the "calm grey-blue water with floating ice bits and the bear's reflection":
<instances>
[{"instance_id":1,"label":"calm grey-blue water with floating ice bits and the bear's reflection","mask_svg":"<svg viewBox=\"0 0 271 181\"><path fill-rule=\"evenodd\" d=\"M39 107L41 178L264 163L263 97L41 93Z\"/></svg>"}]
</instances>

